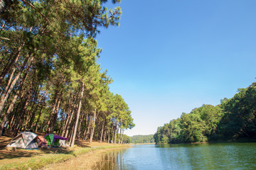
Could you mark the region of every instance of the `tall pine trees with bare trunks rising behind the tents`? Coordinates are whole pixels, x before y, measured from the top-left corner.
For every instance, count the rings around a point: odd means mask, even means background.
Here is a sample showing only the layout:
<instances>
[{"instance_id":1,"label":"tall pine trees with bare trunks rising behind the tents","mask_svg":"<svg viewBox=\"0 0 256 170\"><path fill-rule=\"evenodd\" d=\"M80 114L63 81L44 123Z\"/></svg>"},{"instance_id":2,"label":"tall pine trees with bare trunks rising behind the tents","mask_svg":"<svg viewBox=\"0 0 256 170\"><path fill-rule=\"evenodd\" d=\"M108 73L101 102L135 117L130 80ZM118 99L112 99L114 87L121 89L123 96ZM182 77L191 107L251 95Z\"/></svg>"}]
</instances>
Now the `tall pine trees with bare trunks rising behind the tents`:
<instances>
[{"instance_id":1,"label":"tall pine trees with bare trunks rising behind the tents","mask_svg":"<svg viewBox=\"0 0 256 170\"><path fill-rule=\"evenodd\" d=\"M97 64L95 36L121 15L106 2L0 1L0 135L55 133L73 147L78 139L122 142L134 127Z\"/></svg>"}]
</instances>

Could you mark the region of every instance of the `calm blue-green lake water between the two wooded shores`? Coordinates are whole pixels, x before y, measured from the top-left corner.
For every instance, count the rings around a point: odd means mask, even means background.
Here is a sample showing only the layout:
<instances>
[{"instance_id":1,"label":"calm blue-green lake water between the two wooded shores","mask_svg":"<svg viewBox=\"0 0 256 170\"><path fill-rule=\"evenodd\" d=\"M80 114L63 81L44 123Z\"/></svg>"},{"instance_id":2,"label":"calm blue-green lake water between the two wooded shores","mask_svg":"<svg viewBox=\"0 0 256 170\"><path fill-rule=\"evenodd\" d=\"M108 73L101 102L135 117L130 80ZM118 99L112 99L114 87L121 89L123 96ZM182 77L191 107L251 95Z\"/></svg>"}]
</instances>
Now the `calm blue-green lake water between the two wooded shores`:
<instances>
[{"instance_id":1,"label":"calm blue-green lake water between the two wooded shores","mask_svg":"<svg viewBox=\"0 0 256 170\"><path fill-rule=\"evenodd\" d=\"M134 145L103 159L98 169L256 169L256 143Z\"/></svg>"}]
</instances>

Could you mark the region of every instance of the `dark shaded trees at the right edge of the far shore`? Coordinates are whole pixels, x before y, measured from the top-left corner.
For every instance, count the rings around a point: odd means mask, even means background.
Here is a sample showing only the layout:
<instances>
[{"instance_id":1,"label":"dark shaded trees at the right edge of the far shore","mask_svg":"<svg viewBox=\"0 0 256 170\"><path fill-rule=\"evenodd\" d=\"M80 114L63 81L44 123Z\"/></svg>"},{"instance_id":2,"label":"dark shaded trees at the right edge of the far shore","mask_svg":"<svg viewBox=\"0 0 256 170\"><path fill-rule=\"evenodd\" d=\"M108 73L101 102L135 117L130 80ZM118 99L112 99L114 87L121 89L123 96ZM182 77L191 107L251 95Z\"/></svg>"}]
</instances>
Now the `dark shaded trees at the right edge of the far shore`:
<instances>
[{"instance_id":1,"label":"dark shaded trees at the right edge of the far shore","mask_svg":"<svg viewBox=\"0 0 256 170\"><path fill-rule=\"evenodd\" d=\"M239 89L233 98L221 103L225 115L220 120L218 134L228 139L255 137L256 135L256 84Z\"/></svg>"}]
</instances>

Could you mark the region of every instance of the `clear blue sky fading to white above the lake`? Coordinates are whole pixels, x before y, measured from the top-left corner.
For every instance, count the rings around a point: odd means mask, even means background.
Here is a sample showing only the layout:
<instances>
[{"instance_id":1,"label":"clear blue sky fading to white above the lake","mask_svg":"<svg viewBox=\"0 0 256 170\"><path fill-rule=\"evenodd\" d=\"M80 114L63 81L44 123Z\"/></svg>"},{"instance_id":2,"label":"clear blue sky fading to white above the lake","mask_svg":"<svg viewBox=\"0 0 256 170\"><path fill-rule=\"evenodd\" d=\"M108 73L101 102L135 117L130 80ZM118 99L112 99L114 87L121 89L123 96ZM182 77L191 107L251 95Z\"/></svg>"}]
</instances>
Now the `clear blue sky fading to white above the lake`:
<instances>
[{"instance_id":1,"label":"clear blue sky fading to white above the lake","mask_svg":"<svg viewBox=\"0 0 256 170\"><path fill-rule=\"evenodd\" d=\"M98 63L114 79L136 127L159 126L218 105L256 77L255 0L122 0L119 27L97 35Z\"/></svg>"}]
</instances>

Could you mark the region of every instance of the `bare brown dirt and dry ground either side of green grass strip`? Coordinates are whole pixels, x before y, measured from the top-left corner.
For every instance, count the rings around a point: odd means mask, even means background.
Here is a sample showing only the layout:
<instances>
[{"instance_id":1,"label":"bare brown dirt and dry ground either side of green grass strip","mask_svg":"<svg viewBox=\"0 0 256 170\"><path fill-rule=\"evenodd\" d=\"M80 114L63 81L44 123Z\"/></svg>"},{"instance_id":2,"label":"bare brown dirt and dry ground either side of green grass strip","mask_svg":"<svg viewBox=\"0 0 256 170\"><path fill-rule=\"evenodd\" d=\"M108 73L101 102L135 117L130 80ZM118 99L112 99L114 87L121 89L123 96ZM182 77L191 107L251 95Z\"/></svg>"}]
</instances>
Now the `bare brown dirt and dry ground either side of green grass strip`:
<instances>
[{"instance_id":1,"label":"bare brown dirt and dry ground either side of green grass strip","mask_svg":"<svg viewBox=\"0 0 256 170\"><path fill-rule=\"evenodd\" d=\"M70 151L70 148L50 148L50 149L11 149L6 147L13 137L1 136L0 137L0 164L8 164L8 163L22 163L27 162L28 159L34 157L41 157L46 154L54 154L54 153L64 153ZM107 142L86 142L80 140L79 143L75 144L75 147L72 148L73 150L81 149L81 147L103 147L109 146L114 144L108 144ZM82 166L84 167L92 167L97 164L100 158L100 154L107 152L108 149L105 150L96 150L93 152L89 152L87 154L81 155L80 159L70 159L67 162L62 162L60 164L52 164L46 166L46 169L74 169L75 165L78 162L82 161ZM85 161L86 160L86 161ZM88 165L88 166L85 166ZM81 169L77 167L75 169ZM82 168L83 169L83 168Z\"/></svg>"}]
</instances>

